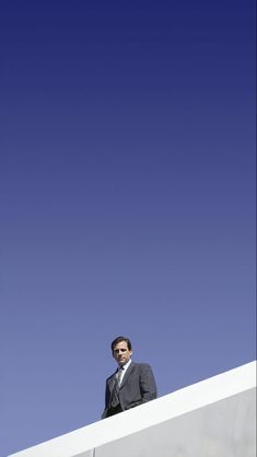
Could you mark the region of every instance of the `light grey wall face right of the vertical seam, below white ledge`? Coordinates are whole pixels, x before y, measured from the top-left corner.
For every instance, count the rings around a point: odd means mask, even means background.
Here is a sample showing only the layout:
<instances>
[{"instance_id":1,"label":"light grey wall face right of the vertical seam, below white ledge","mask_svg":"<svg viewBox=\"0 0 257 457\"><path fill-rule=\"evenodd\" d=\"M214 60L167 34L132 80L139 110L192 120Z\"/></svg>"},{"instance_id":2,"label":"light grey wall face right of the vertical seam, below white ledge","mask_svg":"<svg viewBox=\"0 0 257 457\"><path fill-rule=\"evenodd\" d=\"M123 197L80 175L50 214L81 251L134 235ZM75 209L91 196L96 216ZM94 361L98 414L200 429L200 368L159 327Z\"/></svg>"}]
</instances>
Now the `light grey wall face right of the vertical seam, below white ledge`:
<instances>
[{"instance_id":1,"label":"light grey wall face right of the vertical seam, below white ledge","mask_svg":"<svg viewBox=\"0 0 257 457\"><path fill-rule=\"evenodd\" d=\"M95 457L256 457L247 390L96 448Z\"/></svg>"}]
</instances>

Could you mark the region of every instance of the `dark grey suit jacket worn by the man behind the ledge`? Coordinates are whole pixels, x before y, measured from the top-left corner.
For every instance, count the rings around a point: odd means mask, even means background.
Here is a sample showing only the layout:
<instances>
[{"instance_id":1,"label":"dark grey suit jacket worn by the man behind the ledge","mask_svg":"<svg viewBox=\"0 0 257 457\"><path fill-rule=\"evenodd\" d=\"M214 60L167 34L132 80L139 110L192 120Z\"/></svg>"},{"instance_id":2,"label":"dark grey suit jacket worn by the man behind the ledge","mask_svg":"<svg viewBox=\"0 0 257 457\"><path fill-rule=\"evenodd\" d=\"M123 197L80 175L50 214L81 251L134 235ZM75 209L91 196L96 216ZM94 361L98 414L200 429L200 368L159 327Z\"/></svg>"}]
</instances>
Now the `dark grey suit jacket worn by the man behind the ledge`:
<instances>
[{"instance_id":1,"label":"dark grey suit jacket worn by the man behind the ledge","mask_svg":"<svg viewBox=\"0 0 257 457\"><path fill-rule=\"evenodd\" d=\"M116 373L117 371L106 379L105 409L102 419L106 418L107 410L110 408ZM153 400L156 396L156 384L151 366L148 363L131 362L119 388L121 409L135 408L138 405Z\"/></svg>"}]
</instances>

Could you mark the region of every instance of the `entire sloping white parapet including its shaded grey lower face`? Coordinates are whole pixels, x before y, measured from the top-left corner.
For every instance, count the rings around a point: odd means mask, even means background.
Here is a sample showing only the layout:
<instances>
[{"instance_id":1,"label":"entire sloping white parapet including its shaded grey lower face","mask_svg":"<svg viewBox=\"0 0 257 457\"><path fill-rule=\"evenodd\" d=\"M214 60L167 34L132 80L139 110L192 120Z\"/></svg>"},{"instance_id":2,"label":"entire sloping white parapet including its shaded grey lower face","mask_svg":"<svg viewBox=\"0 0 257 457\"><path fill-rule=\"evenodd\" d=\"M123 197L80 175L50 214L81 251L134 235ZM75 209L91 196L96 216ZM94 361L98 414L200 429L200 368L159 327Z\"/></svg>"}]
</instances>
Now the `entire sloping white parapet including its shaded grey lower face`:
<instances>
[{"instance_id":1,"label":"entire sloping white parapet including its shaded grey lower face","mask_svg":"<svg viewBox=\"0 0 257 457\"><path fill-rule=\"evenodd\" d=\"M255 457L256 362L12 457Z\"/></svg>"}]
</instances>

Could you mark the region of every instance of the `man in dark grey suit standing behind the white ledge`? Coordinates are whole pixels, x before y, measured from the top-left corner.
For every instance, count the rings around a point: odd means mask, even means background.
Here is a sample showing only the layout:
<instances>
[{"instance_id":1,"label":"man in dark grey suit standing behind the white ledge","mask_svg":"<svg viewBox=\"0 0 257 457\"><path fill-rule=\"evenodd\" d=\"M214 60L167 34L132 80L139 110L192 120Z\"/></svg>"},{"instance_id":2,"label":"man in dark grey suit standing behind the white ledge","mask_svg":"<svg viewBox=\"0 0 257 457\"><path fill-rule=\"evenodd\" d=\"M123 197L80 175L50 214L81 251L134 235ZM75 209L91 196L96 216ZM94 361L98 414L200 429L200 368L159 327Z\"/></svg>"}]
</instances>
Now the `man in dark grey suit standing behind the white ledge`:
<instances>
[{"instance_id":1,"label":"man in dark grey suit standing behind the white ledge","mask_svg":"<svg viewBox=\"0 0 257 457\"><path fill-rule=\"evenodd\" d=\"M102 419L153 400L157 395L151 366L131 361L130 340L118 337L110 347L118 368L106 379L105 409Z\"/></svg>"}]
</instances>

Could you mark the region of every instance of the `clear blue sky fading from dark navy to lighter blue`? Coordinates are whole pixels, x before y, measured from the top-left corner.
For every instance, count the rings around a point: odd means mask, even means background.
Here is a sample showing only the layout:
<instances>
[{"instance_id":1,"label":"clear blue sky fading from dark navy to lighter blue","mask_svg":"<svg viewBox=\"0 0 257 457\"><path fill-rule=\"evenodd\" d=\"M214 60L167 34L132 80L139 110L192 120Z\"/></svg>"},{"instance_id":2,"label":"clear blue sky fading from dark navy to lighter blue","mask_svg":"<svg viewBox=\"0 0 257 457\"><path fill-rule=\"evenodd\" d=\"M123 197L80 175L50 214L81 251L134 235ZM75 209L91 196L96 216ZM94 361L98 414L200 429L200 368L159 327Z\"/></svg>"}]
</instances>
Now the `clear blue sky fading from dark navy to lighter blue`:
<instances>
[{"instance_id":1,"label":"clear blue sky fading from dark navy to lighter blue","mask_svg":"<svg viewBox=\"0 0 257 457\"><path fill-rule=\"evenodd\" d=\"M0 456L255 352L255 1L1 1Z\"/></svg>"}]
</instances>

